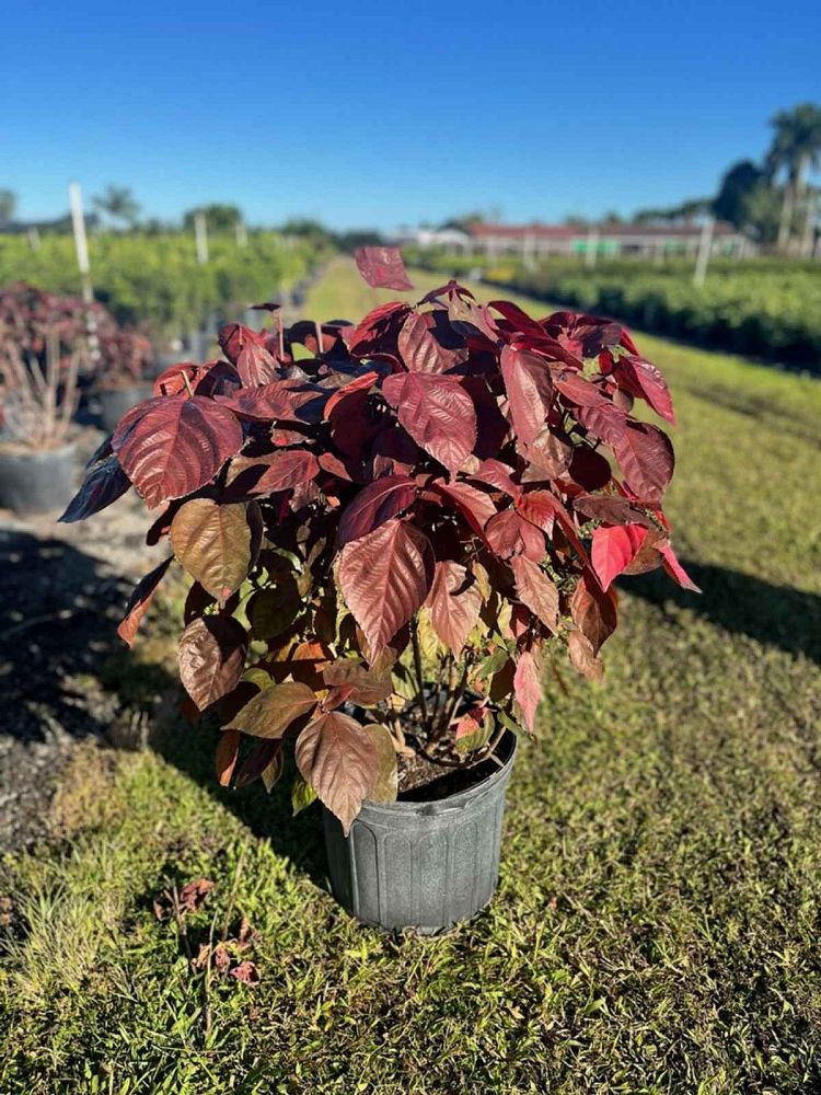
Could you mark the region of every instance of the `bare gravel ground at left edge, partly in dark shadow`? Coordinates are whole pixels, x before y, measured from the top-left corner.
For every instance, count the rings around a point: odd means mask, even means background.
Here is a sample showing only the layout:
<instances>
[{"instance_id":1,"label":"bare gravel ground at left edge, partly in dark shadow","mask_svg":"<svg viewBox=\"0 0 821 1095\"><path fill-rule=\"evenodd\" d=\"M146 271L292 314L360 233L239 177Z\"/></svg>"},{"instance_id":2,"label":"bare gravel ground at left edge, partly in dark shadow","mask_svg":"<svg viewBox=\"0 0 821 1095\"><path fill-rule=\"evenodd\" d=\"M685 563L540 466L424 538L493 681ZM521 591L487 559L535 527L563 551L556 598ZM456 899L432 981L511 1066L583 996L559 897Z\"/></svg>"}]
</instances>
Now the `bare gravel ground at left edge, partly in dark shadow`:
<instances>
[{"instance_id":1,"label":"bare gravel ground at left edge, partly in dark shadow","mask_svg":"<svg viewBox=\"0 0 821 1095\"><path fill-rule=\"evenodd\" d=\"M86 427L82 465L103 439ZM56 776L90 736L138 744L146 715L99 681L122 649L116 626L135 581L159 560L130 492L78 525L0 510L0 851L47 832Z\"/></svg>"}]
</instances>

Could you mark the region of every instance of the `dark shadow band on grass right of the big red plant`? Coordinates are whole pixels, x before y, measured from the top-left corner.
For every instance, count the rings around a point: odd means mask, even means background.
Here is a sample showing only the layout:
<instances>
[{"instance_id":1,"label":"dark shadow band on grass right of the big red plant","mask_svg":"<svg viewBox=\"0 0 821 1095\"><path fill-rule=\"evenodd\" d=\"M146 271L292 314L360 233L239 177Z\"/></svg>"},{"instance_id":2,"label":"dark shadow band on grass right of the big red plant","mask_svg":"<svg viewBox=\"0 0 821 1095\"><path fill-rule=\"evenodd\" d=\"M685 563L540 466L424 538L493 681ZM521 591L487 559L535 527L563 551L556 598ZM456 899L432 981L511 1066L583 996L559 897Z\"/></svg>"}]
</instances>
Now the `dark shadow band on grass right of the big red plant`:
<instances>
[{"instance_id":1,"label":"dark shadow band on grass right of the big red plant","mask_svg":"<svg viewBox=\"0 0 821 1095\"><path fill-rule=\"evenodd\" d=\"M821 664L821 597L722 566L684 560L684 567L701 596L674 585L663 570L620 580L626 592L655 604L672 601L732 634Z\"/></svg>"}]
</instances>

